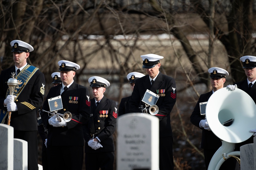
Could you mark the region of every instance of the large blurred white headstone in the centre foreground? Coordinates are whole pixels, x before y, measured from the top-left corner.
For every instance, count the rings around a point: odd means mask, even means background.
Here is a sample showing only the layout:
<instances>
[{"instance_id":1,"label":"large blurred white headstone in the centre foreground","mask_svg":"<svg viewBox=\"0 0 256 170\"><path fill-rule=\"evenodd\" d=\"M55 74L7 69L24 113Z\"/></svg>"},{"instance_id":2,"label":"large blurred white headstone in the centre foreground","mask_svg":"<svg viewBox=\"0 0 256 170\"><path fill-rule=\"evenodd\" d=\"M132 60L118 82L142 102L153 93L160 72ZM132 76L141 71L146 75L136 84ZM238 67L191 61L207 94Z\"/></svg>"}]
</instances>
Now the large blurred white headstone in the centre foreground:
<instances>
[{"instance_id":1,"label":"large blurred white headstone in the centre foreground","mask_svg":"<svg viewBox=\"0 0 256 170\"><path fill-rule=\"evenodd\" d=\"M159 169L159 119L124 114L117 123L117 169Z\"/></svg>"}]
</instances>

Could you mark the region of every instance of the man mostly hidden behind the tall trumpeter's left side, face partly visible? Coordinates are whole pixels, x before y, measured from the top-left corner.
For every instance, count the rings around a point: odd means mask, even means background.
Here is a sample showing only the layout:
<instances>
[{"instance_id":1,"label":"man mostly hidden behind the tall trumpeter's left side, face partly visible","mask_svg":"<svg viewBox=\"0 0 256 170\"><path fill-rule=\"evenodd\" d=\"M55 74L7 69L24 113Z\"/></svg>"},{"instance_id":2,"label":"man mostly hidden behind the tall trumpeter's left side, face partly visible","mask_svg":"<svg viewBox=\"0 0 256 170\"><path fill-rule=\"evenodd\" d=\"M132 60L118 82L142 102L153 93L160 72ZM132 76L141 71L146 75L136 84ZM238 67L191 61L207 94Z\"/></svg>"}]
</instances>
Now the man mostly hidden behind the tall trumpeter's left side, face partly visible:
<instances>
[{"instance_id":1,"label":"man mostly hidden behind the tall trumpeter's left side, face partly visible","mask_svg":"<svg viewBox=\"0 0 256 170\"><path fill-rule=\"evenodd\" d=\"M135 80L137 80L140 77L145 76L142 73L139 72L131 72L127 74L127 79L129 81L129 84L131 85L131 90L133 91L134 85L135 85ZM119 108L118 108L118 116L121 116L125 113L129 113L129 100L131 96L124 97L121 99Z\"/></svg>"}]
</instances>

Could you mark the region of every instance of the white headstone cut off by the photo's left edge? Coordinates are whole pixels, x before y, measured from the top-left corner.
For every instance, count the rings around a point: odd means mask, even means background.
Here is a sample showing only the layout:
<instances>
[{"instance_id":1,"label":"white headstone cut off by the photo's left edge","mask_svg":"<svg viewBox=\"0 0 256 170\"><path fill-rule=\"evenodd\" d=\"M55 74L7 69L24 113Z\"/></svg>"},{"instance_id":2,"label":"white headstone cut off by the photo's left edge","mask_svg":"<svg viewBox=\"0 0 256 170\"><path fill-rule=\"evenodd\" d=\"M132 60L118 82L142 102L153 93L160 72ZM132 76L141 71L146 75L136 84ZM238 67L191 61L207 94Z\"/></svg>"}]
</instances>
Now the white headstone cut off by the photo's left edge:
<instances>
[{"instance_id":1,"label":"white headstone cut off by the photo's left edge","mask_svg":"<svg viewBox=\"0 0 256 170\"><path fill-rule=\"evenodd\" d=\"M0 124L0 169L13 170L13 127Z\"/></svg>"}]
</instances>

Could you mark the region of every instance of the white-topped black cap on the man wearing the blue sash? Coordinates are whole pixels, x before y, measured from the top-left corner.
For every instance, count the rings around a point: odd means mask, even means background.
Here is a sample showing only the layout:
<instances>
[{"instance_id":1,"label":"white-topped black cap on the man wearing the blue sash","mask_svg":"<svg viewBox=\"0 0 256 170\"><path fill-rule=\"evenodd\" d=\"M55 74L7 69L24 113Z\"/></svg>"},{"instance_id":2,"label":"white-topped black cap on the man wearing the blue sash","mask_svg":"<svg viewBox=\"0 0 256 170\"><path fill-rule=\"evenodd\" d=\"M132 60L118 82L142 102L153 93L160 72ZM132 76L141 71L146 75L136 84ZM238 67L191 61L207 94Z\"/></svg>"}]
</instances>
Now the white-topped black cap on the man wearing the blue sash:
<instances>
[{"instance_id":1,"label":"white-topped black cap on the man wearing the blue sash","mask_svg":"<svg viewBox=\"0 0 256 170\"><path fill-rule=\"evenodd\" d=\"M21 40L13 40L11 43L12 51L11 52L18 52L18 53L29 53L34 50L34 48Z\"/></svg>"}]
</instances>

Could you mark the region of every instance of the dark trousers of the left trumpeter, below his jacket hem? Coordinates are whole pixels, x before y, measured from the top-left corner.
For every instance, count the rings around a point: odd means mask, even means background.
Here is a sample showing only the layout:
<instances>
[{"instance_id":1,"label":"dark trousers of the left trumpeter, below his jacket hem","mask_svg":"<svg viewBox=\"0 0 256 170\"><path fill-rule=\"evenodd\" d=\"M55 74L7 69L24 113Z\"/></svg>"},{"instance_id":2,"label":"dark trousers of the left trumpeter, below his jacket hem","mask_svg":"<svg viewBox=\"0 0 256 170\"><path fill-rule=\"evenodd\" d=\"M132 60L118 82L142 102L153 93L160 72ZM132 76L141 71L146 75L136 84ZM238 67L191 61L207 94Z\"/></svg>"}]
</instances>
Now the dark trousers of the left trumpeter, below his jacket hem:
<instances>
[{"instance_id":1,"label":"dark trousers of the left trumpeter, below his jacket hem","mask_svg":"<svg viewBox=\"0 0 256 170\"><path fill-rule=\"evenodd\" d=\"M83 167L83 146L48 146L47 159L49 170L79 170Z\"/></svg>"}]
</instances>

